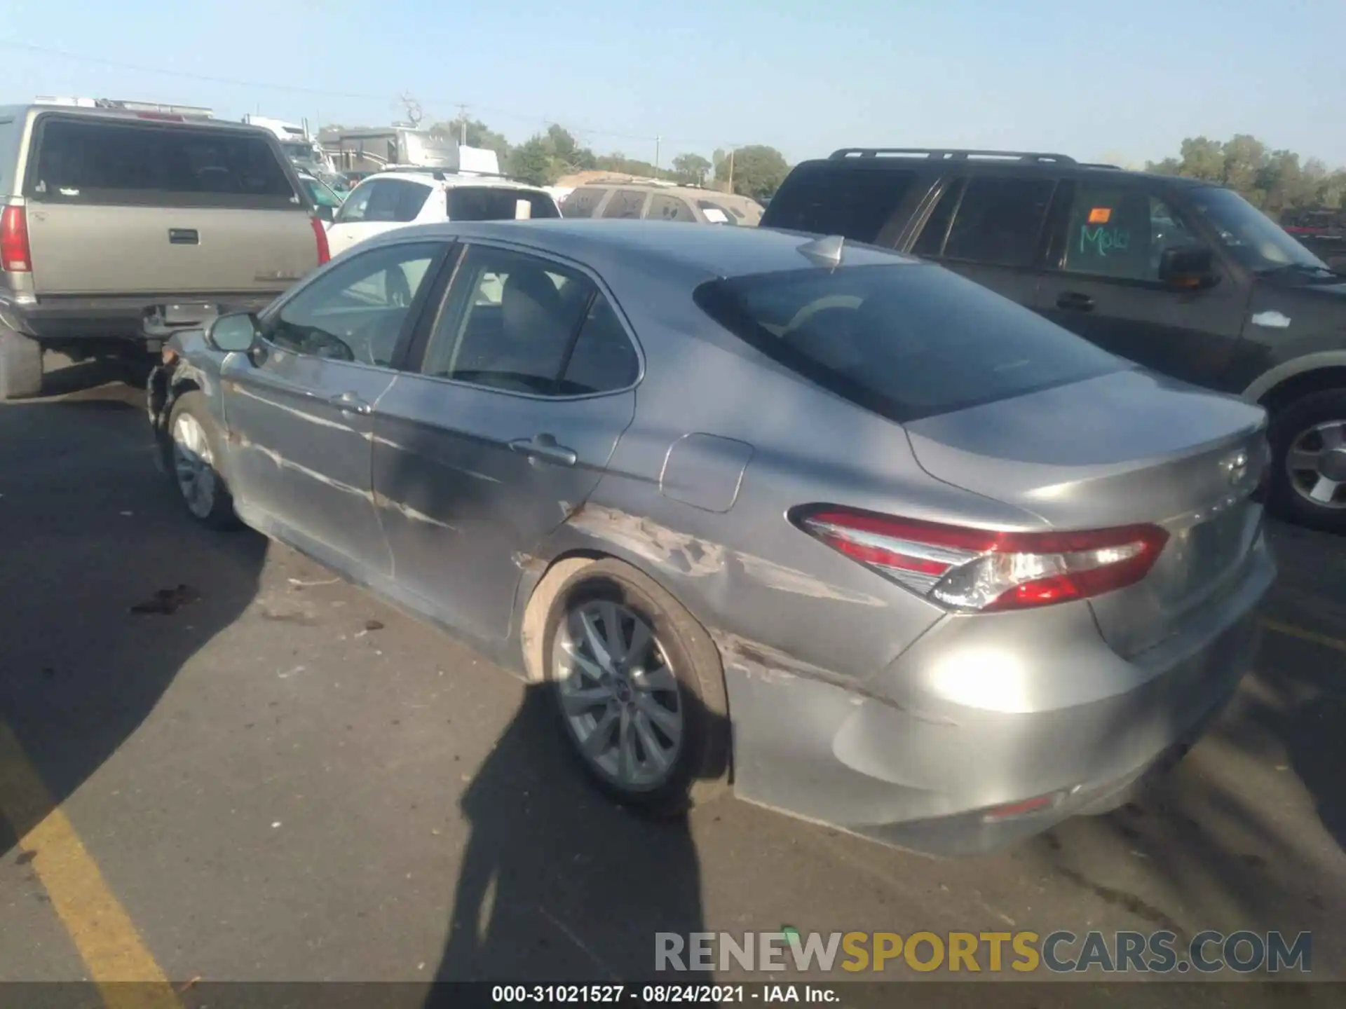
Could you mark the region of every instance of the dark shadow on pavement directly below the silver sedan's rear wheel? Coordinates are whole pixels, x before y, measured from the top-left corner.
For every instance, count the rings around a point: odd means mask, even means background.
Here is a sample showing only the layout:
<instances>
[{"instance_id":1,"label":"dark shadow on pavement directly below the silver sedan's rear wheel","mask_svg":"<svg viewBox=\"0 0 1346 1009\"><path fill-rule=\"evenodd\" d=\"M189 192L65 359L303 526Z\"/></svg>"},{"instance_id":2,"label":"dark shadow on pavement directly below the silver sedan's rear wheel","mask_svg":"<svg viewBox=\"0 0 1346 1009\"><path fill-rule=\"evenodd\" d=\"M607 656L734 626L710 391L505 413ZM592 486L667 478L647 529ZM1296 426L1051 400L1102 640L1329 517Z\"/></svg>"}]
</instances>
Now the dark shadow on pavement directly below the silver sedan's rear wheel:
<instances>
[{"instance_id":1,"label":"dark shadow on pavement directly below the silver sedan's rear wheel","mask_svg":"<svg viewBox=\"0 0 1346 1009\"><path fill-rule=\"evenodd\" d=\"M463 794L471 834L437 981L642 981L656 977L657 932L704 928L686 819L610 802L557 721L551 687L529 687ZM428 1005L452 997L436 992Z\"/></svg>"}]
</instances>

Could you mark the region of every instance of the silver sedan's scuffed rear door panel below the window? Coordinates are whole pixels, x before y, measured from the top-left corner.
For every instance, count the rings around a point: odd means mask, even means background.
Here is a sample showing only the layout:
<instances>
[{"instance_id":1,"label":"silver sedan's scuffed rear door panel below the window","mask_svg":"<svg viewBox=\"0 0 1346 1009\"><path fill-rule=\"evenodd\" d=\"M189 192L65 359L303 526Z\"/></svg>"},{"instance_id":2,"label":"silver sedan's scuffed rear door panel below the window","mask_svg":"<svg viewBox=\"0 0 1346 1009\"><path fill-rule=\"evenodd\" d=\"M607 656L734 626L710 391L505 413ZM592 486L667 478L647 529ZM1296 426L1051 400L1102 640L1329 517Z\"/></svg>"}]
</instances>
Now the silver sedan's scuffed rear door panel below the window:
<instances>
[{"instance_id":1,"label":"silver sedan's scuffed rear door panel below the window","mask_svg":"<svg viewBox=\"0 0 1346 1009\"><path fill-rule=\"evenodd\" d=\"M374 420L374 490L398 584L440 619L503 638L518 562L598 484L633 390L546 400L401 375ZM514 441L549 435L572 464Z\"/></svg>"}]
</instances>

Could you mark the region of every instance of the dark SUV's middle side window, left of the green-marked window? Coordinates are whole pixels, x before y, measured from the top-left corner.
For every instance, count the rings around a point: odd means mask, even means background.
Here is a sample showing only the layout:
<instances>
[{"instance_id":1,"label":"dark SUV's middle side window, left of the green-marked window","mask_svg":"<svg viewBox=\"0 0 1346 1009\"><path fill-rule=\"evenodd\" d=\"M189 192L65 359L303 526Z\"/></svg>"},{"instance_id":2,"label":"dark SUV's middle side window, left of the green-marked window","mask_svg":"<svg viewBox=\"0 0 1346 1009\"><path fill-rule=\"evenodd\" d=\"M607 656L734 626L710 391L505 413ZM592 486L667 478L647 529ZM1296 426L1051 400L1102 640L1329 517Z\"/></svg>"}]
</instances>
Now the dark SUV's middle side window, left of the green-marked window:
<instances>
[{"instance_id":1,"label":"dark SUV's middle side window, left of the green-marked window","mask_svg":"<svg viewBox=\"0 0 1346 1009\"><path fill-rule=\"evenodd\" d=\"M944 254L999 266L1031 266L1055 187L1054 179L970 179Z\"/></svg>"}]
</instances>

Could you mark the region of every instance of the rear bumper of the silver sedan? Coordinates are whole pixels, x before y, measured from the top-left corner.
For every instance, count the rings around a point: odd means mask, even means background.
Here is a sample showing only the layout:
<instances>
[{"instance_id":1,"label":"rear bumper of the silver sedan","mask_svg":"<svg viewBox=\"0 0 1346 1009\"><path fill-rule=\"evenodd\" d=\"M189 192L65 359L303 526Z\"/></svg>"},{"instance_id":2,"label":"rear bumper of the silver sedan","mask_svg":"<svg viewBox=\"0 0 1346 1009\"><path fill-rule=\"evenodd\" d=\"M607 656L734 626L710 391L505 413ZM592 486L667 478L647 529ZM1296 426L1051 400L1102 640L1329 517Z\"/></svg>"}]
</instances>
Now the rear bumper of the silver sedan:
<instances>
[{"instance_id":1,"label":"rear bumper of the silver sedan","mask_svg":"<svg viewBox=\"0 0 1346 1009\"><path fill-rule=\"evenodd\" d=\"M1132 661L1096 630L1086 648L1084 635L1073 642L1050 632L1027 648L975 655L933 643L929 658L895 663L926 690L900 700L754 669L725 652L735 790L946 856L989 852L1066 817L1104 811L1125 802L1144 775L1175 763L1218 717L1252 665L1259 603L1273 577L1259 541L1237 585L1194 615L1180 639ZM926 667L913 675L913 662ZM953 682L950 665L985 693L929 689ZM1094 696L1059 705L1036 704L1030 692L995 697L1001 673L1053 687L1073 679ZM1034 802L1040 805L1012 809Z\"/></svg>"}]
</instances>

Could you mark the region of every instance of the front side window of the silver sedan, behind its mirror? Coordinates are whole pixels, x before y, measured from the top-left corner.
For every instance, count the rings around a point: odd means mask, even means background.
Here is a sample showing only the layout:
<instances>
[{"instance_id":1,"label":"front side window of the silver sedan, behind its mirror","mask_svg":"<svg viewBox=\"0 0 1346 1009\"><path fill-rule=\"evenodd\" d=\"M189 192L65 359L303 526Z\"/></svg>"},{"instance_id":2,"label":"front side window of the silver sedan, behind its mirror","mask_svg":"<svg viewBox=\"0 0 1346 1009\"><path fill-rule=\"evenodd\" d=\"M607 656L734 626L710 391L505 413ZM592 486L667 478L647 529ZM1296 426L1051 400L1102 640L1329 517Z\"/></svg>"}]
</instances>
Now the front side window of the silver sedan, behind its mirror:
<instances>
[{"instance_id":1,"label":"front side window of the silver sedan, behind its mirror","mask_svg":"<svg viewBox=\"0 0 1346 1009\"><path fill-rule=\"evenodd\" d=\"M295 354L392 366L416 292L443 246L390 245L324 273L287 301L267 338Z\"/></svg>"}]
</instances>

